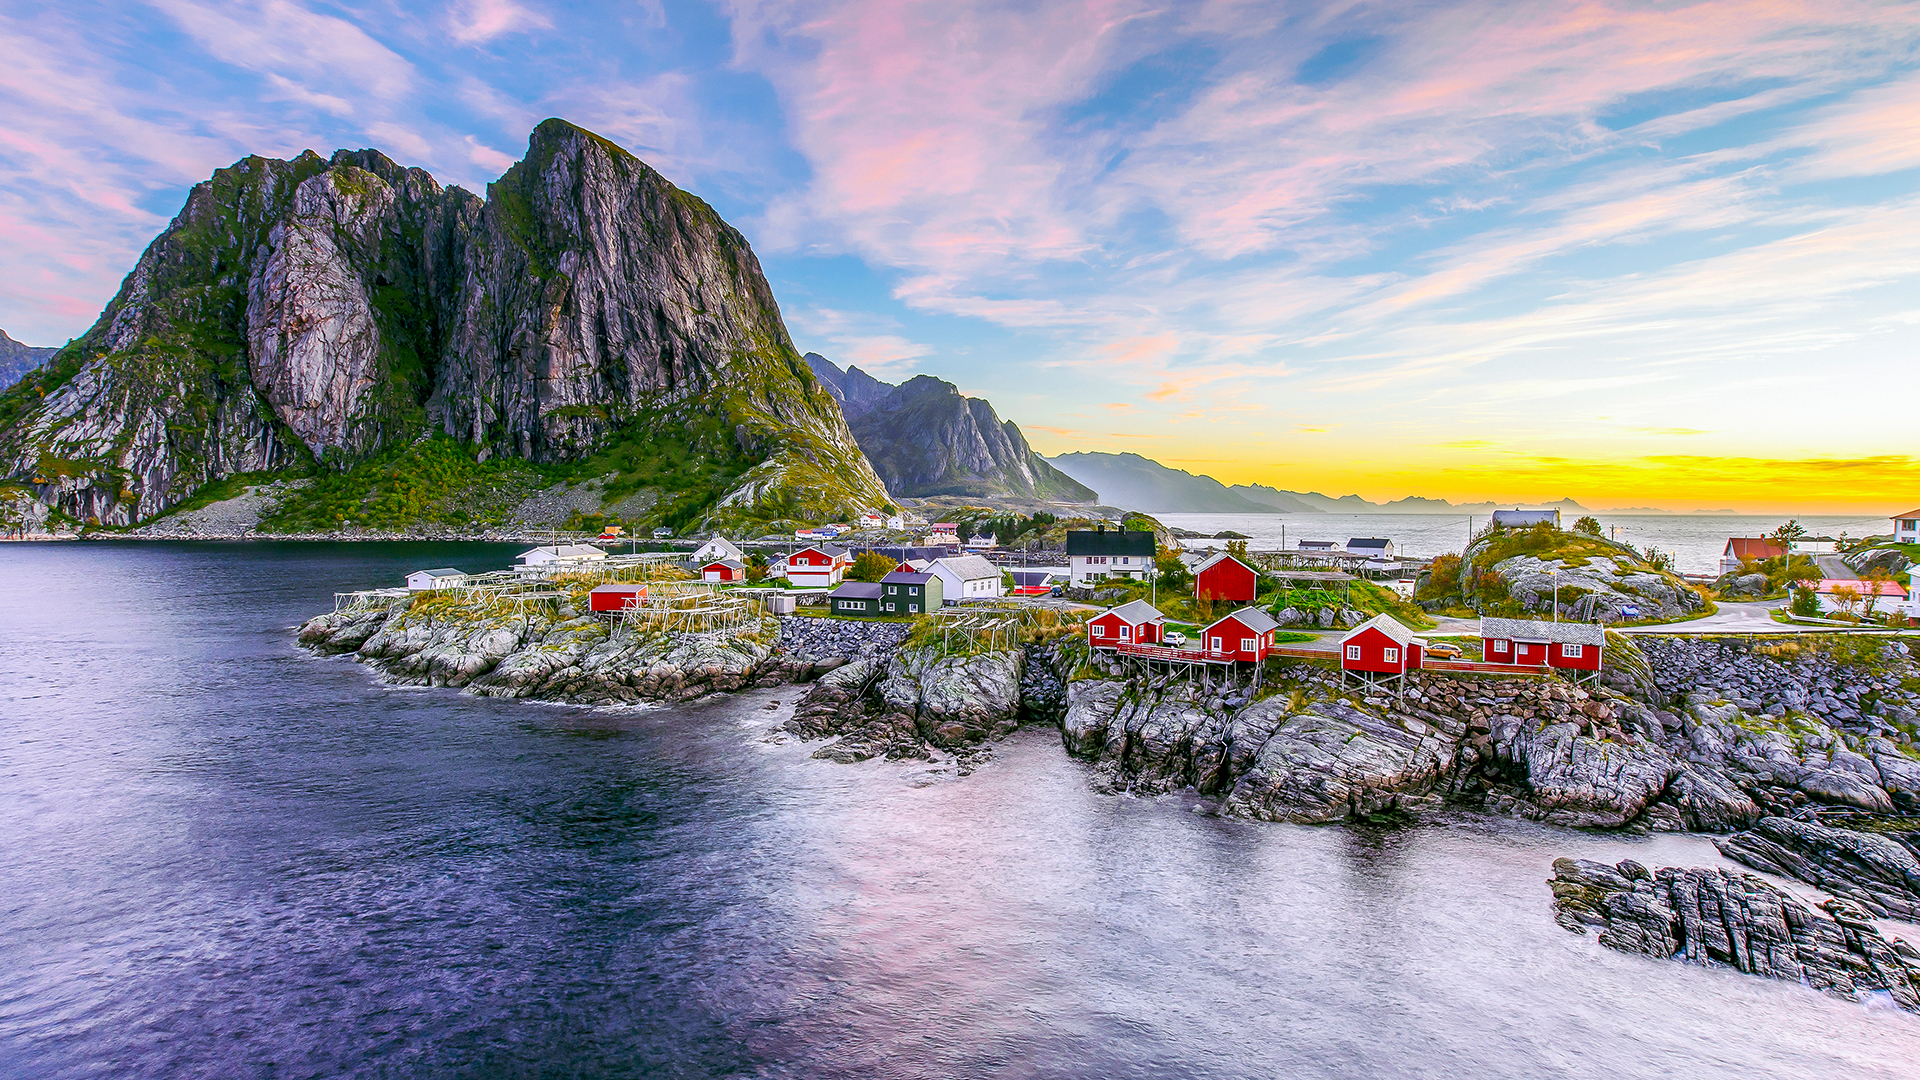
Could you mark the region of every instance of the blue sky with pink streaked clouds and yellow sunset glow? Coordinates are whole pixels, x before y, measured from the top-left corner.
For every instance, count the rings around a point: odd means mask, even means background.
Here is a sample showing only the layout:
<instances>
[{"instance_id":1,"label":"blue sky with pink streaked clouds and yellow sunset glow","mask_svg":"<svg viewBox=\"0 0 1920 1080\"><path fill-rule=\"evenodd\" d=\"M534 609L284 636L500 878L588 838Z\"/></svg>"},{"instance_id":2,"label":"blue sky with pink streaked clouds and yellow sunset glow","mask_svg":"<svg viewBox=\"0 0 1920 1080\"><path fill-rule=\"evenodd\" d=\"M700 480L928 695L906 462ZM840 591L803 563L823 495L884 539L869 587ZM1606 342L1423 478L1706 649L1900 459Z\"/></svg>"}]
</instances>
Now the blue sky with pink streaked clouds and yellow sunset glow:
<instances>
[{"instance_id":1,"label":"blue sky with pink streaked clouds and yellow sunset glow","mask_svg":"<svg viewBox=\"0 0 1920 1080\"><path fill-rule=\"evenodd\" d=\"M795 342L1043 454L1373 500L1920 505L1920 4L0 0L0 329L186 190L559 115Z\"/></svg>"}]
</instances>

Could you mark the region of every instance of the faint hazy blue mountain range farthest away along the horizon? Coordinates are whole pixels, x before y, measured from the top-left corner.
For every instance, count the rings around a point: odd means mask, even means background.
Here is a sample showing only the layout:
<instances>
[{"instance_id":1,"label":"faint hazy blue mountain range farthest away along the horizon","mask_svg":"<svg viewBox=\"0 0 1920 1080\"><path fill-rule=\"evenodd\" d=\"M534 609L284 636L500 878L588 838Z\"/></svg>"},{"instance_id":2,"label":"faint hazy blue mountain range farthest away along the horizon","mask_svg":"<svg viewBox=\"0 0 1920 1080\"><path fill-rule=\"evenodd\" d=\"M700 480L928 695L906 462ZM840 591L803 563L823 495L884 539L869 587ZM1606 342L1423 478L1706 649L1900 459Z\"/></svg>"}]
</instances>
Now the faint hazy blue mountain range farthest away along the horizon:
<instances>
[{"instance_id":1,"label":"faint hazy blue mountain range farthest away along the horizon","mask_svg":"<svg viewBox=\"0 0 1920 1080\"><path fill-rule=\"evenodd\" d=\"M858 429L856 429L858 432ZM1227 486L1213 477L1185 469L1169 469L1139 454L1062 454L1048 457L1056 469L1100 494L1100 502L1144 513L1492 513L1515 503L1452 503L1409 496L1394 502L1367 502L1359 496L1323 496L1319 492L1283 492L1265 484ZM1549 503L1586 513L1571 498Z\"/></svg>"}]
</instances>

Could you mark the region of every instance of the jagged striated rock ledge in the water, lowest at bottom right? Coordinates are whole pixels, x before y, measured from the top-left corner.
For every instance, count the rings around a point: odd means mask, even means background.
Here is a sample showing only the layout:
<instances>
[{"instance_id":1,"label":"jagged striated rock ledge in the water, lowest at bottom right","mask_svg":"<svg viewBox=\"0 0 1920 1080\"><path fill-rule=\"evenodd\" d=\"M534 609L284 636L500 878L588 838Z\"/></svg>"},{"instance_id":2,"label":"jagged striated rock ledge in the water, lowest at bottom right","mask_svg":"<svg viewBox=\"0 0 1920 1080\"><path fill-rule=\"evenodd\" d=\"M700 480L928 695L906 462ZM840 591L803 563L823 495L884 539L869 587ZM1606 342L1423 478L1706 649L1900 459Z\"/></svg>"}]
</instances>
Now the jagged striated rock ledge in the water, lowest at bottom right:
<instances>
[{"instance_id":1,"label":"jagged striated rock ledge in the water, lowest at bottom right","mask_svg":"<svg viewBox=\"0 0 1920 1080\"><path fill-rule=\"evenodd\" d=\"M1841 899L1812 911L1753 876L1718 869L1647 871L1586 859L1553 861L1553 913L1561 926L1624 953L1724 965L1803 982L1839 997L1884 992L1920 1013L1920 951L1887 940Z\"/></svg>"}]
</instances>

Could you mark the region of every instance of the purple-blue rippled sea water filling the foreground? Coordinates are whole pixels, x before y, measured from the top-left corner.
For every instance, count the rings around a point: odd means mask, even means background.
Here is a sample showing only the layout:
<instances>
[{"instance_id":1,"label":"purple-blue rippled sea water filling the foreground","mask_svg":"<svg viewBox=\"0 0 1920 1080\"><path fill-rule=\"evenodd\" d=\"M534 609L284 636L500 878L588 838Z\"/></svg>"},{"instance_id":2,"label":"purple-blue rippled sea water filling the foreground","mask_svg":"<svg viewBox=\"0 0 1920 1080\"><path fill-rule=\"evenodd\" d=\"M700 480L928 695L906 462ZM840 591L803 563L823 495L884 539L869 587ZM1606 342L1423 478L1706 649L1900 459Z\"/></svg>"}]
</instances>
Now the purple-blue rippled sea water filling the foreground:
<instances>
[{"instance_id":1,"label":"purple-blue rippled sea water filling the foreground","mask_svg":"<svg viewBox=\"0 0 1920 1080\"><path fill-rule=\"evenodd\" d=\"M1500 819L1112 798L1052 730L968 778L303 655L451 544L0 546L0 1076L1912 1078L1920 1017L1553 924ZM770 701L781 701L768 709Z\"/></svg>"}]
</instances>

